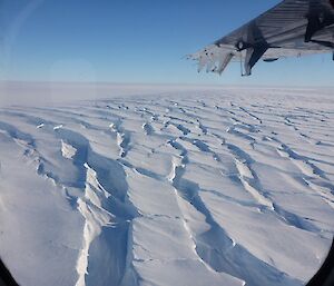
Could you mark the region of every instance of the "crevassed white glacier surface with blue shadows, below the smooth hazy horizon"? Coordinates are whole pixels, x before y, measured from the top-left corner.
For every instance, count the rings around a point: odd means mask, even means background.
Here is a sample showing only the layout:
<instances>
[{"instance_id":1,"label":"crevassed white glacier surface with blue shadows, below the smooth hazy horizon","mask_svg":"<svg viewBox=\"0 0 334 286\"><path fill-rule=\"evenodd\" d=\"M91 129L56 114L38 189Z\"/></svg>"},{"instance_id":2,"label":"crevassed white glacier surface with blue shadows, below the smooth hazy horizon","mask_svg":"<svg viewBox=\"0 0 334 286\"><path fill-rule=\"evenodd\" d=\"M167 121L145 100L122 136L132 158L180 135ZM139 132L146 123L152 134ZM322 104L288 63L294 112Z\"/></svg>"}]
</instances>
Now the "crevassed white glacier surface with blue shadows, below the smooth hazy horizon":
<instances>
[{"instance_id":1,"label":"crevassed white glacier surface with blue shadows, below the smooth hazy horizon","mask_svg":"<svg viewBox=\"0 0 334 286\"><path fill-rule=\"evenodd\" d=\"M334 99L166 92L0 109L22 286L301 286L334 234Z\"/></svg>"}]
</instances>

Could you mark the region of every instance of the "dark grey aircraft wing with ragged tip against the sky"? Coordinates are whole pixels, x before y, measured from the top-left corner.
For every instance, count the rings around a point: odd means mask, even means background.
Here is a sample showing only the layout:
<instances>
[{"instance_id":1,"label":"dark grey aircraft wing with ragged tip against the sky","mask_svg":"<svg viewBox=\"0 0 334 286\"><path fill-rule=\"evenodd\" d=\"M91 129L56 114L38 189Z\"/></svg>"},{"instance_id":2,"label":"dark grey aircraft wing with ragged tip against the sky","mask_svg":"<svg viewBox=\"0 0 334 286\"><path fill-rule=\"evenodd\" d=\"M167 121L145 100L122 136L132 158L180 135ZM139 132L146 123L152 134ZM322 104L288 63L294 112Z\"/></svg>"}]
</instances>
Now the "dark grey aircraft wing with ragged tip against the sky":
<instances>
[{"instance_id":1,"label":"dark grey aircraft wing with ragged tip against the sky","mask_svg":"<svg viewBox=\"0 0 334 286\"><path fill-rule=\"evenodd\" d=\"M188 58L198 70L222 73L232 60L244 62L245 76L259 59L334 51L334 0L284 0L239 29Z\"/></svg>"}]
</instances>

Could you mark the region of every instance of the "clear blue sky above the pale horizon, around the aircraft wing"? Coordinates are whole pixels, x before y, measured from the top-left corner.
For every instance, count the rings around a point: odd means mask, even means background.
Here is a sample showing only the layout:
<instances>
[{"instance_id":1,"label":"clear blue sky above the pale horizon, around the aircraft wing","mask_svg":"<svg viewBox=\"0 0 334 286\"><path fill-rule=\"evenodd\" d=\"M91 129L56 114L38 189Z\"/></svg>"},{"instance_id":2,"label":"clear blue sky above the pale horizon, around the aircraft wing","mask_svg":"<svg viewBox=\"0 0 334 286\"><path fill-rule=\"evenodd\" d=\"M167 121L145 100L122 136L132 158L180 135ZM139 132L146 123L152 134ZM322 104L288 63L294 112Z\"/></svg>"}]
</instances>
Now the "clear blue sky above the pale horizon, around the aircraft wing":
<instances>
[{"instance_id":1,"label":"clear blue sky above the pale horizon, around the aircraft wing","mask_svg":"<svg viewBox=\"0 0 334 286\"><path fill-rule=\"evenodd\" d=\"M222 77L183 59L279 0L0 0L0 79L333 85L331 55Z\"/></svg>"}]
</instances>

